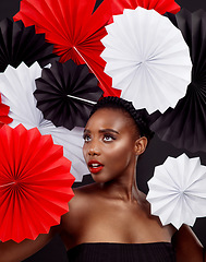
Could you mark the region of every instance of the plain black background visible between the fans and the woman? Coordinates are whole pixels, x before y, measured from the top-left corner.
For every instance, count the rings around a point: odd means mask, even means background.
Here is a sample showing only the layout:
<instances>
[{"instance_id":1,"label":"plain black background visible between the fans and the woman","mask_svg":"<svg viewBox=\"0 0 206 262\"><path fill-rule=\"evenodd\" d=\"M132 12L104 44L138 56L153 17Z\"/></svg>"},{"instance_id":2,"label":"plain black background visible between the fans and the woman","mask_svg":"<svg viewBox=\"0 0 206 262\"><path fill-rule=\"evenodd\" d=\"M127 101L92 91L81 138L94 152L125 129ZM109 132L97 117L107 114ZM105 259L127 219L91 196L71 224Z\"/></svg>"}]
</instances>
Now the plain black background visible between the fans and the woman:
<instances>
[{"instance_id":1,"label":"plain black background visible between the fans and the woman","mask_svg":"<svg viewBox=\"0 0 206 262\"><path fill-rule=\"evenodd\" d=\"M34 0L35 1L35 0ZM101 0L97 0L97 3ZM195 11L198 9L204 9L206 11L206 1L205 0L177 0L177 2L182 8L187 10ZM0 20L4 17L12 17L20 10L20 0L0 0ZM205 28L206 29L206 28ZM147 151L144 153L138 160L137 167L137 183L138 188L147 193L147 181L153 176L155 166L161 165L168 155L179 156L184 151L177 150L172 145L161 142L157 136L153 139ZM191 154L185 152L190 157L199 156L202 164L206 165L206 154L196 153ZM84 177L83 183L75 183L74 187L78 187L85 183L92 182L89 175ZM206 246L206 218L198 218L193 227L193 230ZM64 247L57 236L49 245L47 245L43 250L25 260L25 262L65 262L66 253Z\"/></svg>"}]
</instances>

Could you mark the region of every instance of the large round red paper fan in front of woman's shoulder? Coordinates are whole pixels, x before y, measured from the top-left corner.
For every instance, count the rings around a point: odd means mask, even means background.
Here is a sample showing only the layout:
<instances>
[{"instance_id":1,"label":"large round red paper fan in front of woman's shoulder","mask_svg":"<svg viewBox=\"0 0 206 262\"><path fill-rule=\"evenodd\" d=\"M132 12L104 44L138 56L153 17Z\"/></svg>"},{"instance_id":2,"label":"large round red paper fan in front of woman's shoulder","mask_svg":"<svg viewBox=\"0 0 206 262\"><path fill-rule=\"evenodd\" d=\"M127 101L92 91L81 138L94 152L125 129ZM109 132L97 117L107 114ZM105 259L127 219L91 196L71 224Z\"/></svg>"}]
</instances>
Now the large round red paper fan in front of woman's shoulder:
<instances>
[{"instance_id":1,"label":"large round red paper fan in front of woman's shoulder","mask_svg":"<svg viewBox=\"0 0 206 262\"><path fill-rule=\"evenodd\" d=\"M0 129L0 240L35 239L69 211L74 177L63 147L37 128Z\"/></svg>"}]
</instances>

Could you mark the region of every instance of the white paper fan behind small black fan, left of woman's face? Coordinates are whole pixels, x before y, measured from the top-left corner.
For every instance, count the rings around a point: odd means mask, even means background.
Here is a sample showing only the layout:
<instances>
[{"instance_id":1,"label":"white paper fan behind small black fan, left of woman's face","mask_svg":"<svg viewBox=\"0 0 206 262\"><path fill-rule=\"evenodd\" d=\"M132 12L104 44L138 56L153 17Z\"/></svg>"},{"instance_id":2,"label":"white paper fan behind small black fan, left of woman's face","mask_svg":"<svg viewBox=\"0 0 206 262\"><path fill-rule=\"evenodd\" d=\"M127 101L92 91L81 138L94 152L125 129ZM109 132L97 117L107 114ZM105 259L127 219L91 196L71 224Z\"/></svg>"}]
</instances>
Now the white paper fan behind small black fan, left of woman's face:
<instances>
[{"instance_id":1,"label":"white paper fan behind small black fan, left of woman's face","mask_svg":"<svg viewBox=\"0 0 206 262\"><path fill-rule=\"evenodd\" d=\"M9 66L4 73L0 73L2 102L10 106L9 116L13 118L9 126L15 128L22 123L26 129L37 127L41 134L51 134L53 143L62 145L64 156L72 162L71 172L75 181L82 181L83 175L88 174L82 152L83 128L70 131L63 127L57 128L51 121L44 119L33 95L36 90L35 79L40 75L41 68L37 62L29 68L25 63L16 69Z\"/></svg>"}]
</instances>

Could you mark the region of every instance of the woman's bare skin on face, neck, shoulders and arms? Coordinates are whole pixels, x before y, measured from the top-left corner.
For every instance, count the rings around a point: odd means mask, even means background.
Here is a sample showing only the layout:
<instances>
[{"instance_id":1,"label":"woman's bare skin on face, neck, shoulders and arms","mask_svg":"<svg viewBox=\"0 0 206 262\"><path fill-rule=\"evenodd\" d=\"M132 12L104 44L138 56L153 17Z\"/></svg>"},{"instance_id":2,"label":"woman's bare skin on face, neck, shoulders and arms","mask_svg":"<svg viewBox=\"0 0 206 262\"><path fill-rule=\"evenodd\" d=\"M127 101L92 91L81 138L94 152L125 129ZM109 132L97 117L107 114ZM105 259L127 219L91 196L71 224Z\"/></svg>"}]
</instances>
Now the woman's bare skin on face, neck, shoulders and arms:
<instances>
[{"instance_id":1,"label":"woman's bare skin on face, neck, shoulders and arms","mask_svg":"<svg viewBox=\"0 0 206 262\"><path fill-rule=\"evenodd\" d=\"M22 261L56 233L66 249L83 242L171 242L175 229L150 215L146 195L136 187L136 160L147 139L140 138L134 120L122 110L101 108L88 120L84 140L86 163L102 164L100 171L92 172L96 182L74 190L70 212L49 234L34 241L0 243L0 262ZM174 235L174 248L178 262L203 262L203 247L185 225Z\"/></svg>"}]
</instances>

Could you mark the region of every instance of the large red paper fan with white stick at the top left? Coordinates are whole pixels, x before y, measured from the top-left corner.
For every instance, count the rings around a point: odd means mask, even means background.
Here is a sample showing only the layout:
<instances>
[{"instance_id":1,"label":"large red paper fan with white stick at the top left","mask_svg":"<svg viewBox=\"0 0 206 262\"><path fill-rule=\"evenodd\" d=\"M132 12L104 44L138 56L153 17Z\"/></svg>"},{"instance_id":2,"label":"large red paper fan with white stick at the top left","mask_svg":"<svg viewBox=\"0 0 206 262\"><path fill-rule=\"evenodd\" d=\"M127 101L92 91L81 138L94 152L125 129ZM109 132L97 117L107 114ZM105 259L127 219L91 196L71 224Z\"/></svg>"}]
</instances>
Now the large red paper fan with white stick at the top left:
<instances>
[{"instance_id":1,"label":"large red paper fan with white stick at the top left","mask_svg":"<svg viewBox=\"0 0 206 262\"><path fill-rule=\"evenodd\" d=\"M111 88L111 79L105 74L105 61L99 57L104 50L100 39L107 34L105 25L111 19L108 1L93 13L96 0L22 0L21 11L14 21L36 26L46 39L54 44L54 53L60 61L72 59L77 64L86 63L100 82L105 96L120 96Z\"/></svg>"}]
</instances>

